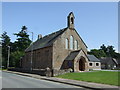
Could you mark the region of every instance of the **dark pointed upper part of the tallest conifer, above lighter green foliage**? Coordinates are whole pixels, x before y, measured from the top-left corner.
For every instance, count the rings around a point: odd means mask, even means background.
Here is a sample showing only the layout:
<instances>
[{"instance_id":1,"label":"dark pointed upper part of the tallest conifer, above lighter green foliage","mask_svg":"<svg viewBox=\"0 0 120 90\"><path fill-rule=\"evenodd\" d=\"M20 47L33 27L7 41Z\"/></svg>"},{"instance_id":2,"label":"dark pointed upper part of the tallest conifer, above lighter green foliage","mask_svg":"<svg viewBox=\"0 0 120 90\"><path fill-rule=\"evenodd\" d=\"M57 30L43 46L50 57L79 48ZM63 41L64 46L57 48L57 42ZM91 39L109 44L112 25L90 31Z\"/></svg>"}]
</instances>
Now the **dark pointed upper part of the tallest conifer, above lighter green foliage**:
<instances>
[{"instance_id":1,"label":"dark pointed upper part of the tallest conifer, above lighter green foliage","mask_svg":"<svg viewBox=\"0 0 120 90\"><path fill-rule=\"evenodd\" d=\"M27 34L26 30L27 27L23 26L19 33L14 34L18 37L17 41L14 42L16 50L24 51L30 45L31 40L29 39L29 35Z\"/></svg>"}]
</instances>

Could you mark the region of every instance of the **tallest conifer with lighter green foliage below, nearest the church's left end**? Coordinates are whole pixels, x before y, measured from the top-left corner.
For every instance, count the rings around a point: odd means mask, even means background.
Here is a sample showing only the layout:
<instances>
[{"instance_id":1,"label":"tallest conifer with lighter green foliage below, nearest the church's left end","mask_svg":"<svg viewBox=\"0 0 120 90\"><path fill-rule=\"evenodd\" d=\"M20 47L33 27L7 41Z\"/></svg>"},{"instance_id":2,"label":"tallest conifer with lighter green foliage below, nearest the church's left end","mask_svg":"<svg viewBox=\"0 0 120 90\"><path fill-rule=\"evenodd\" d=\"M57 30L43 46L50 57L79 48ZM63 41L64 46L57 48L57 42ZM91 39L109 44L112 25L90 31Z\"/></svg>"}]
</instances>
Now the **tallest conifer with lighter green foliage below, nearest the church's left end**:
<instances>
[{"instance_id":1,"label":"tallest conifer with lighter green foliage below, nearest the church's left end","mask_svg":"<svg viewBox=\"0 0 120 90\"><path fill-rule=\"evenodd\" d=\"M11 62L10 64L14 67L19 67L20 59L24 56L25 49L30 45L31 40L27 33L27 27L22 26L21 30L18 33L14 33L17 36L17 39L14 43L11 43Z\"/></svg>"}]
</instances>

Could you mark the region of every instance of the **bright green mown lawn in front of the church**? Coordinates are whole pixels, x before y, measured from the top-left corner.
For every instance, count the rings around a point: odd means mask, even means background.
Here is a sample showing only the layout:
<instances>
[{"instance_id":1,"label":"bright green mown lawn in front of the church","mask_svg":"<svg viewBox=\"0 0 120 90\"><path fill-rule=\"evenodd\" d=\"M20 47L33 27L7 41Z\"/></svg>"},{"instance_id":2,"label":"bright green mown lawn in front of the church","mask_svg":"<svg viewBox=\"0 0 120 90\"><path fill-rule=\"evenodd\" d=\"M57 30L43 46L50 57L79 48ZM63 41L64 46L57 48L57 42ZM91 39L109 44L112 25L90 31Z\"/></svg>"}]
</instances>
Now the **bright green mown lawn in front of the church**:
<instances>
[{"instance_id":1,"label":"bright green mown lawn in front of the church","mask_svg":"<svg viewBox=\"0 0 120 90\"><path fill-rule=\"evenodd\" d=\"M120 77L120 72L119 74L118 72L111 71L67 73L57 77L120 86L120 84L118 84L118 77Z\"/></svg>"}]
</instances>

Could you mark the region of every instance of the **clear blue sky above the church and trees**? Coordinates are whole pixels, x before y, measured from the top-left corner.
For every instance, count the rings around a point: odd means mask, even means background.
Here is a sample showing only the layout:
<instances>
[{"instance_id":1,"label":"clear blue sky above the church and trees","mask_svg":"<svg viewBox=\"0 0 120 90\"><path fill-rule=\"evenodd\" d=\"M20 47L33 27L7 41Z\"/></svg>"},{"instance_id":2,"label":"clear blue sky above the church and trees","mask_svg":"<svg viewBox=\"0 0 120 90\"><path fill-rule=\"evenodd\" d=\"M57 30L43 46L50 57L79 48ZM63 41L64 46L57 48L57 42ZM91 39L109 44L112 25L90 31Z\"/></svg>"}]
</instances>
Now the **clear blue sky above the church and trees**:
<instances>
[{"instance_id":1,"label":"clear blue sky above the church and trees","mask_svg":"<svg viewBox=\"0 0 120 90\"><path fill-rule=\"evenodd\" d=\"M2 32L11 41L16 40L22 26L42 36L67 27L67 16L75 16L75 29L88 50L98 49L102 44L113 45L118 51L118 3L117 2L3 2ZM31 33L30 35L31 39Z\"/></svg>"}]
</instances>

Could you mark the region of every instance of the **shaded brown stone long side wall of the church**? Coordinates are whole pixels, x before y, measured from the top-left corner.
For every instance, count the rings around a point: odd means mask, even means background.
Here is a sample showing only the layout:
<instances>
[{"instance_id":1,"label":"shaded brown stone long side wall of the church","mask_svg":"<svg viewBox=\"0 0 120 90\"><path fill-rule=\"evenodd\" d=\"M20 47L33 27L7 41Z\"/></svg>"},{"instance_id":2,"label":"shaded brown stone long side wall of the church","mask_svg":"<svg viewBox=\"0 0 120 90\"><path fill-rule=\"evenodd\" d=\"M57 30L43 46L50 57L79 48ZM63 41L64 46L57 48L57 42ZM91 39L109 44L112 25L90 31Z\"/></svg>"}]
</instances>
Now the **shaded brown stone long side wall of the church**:
<instances>
[{"instance_id":1,"label":"shaded brown stone long side wall of the church","mask_svg":"<svg viewBox=\"0 0 120 90\"><path fill-rule=\"evenodd\" d=\"M22 68L31 68L31 52L26 52L22 61ZM32 68L45 69L52 68L52 47L42 48L33 51Z\"/></svg>"}]
</instances>

